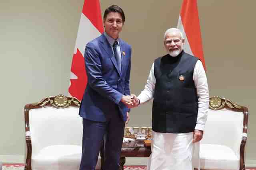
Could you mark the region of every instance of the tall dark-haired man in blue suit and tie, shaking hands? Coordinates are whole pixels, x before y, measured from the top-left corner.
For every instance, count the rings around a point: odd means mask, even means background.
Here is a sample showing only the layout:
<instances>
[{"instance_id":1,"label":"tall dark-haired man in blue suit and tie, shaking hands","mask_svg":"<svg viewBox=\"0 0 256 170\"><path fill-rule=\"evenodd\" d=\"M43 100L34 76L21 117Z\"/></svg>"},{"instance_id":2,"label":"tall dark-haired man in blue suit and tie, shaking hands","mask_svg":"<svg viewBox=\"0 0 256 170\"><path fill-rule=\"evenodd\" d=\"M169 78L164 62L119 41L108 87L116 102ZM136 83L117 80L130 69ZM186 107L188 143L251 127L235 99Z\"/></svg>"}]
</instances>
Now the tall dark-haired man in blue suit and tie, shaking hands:
<instances>
[{"instance_id":1,"label":"tall dark-haired man in blue suit and tie, shaking hands","mask_svg":"<svg viewBox=\"0 0 256 170\"><path fill-rule=\"evenodd\" d=\"M105 32L85 48L88 84L79 111L84 127L80 170L95 169L104 135L103 170L119 169L124 125L130 111L127 106L132 104L131 46L119 38L124 21L119 6L108 7L103 16Z\"/></svg>"}]
</instances>

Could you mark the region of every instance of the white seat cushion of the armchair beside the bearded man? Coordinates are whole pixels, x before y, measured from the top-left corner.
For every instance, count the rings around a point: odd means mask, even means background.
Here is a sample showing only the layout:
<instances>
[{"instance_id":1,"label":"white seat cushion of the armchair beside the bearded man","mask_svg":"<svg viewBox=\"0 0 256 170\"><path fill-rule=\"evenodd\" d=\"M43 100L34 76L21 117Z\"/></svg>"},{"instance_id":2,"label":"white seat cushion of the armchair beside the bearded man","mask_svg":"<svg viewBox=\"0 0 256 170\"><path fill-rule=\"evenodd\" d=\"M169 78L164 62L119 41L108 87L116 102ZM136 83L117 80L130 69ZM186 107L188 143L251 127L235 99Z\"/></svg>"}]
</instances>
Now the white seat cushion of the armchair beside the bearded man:
<instances>
[{"instance_id":1,"label":"white seat cushion of the armchair beside the bearded man","mask_svg":"<svg viewBox=\"0 0 256 170\"><path fill-rule=\"evenodd\" d=\"M198 162L198 160L196 161ZM198 168L198 163L193 163ZM239 170L239 156L223 145L200 145L200 168L211 170Z\"/></svg>"}]
</instances>

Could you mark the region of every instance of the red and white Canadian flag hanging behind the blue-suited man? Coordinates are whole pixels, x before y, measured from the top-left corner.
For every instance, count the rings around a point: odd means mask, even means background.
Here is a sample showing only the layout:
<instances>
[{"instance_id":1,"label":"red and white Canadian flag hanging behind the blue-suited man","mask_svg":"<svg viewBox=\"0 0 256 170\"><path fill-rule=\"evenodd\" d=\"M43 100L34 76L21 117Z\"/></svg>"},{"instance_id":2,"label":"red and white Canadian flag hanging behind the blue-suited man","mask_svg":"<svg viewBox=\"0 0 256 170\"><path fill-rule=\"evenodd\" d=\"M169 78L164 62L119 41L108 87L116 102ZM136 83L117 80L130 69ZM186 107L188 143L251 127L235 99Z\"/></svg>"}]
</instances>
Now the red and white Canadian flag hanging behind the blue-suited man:
<instances>
[{"instance_id":1,"label":"red and white Canadian flag hanging behind the blue-suited man","mask_svg":"<svg viewBox=\"0 0 256 170\"><path fill-rule=\"evenodd\" d=\"M84 63L85 46L89 41L101 35L103 31L99 0L84 0L71 64L70 86L68 88L70 95L80 101L83 98L87 84Z\"/></svg>"}]
</instances>

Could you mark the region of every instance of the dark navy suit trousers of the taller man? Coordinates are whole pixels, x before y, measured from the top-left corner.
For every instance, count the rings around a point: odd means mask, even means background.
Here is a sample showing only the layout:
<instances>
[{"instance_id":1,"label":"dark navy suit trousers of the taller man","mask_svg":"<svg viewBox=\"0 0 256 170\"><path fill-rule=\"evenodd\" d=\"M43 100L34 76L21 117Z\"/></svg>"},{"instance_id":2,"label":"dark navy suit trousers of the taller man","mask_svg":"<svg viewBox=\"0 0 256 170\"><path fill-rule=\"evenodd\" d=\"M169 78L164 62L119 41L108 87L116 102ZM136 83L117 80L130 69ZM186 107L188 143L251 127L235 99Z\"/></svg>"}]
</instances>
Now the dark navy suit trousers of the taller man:
<instances>
[{"instance_id":1,"label":"dark navy suit trousers of the taller man","mask_svg":"<svg viewBox=\"0 0 256 170\"><path fill-rule=\"evenodd\" d=\"M83 143L80 170L95 170L104 137L103 170L119 170L125 122L118 114L106 122L83 119Z\"/></svg>"}]
</instances>

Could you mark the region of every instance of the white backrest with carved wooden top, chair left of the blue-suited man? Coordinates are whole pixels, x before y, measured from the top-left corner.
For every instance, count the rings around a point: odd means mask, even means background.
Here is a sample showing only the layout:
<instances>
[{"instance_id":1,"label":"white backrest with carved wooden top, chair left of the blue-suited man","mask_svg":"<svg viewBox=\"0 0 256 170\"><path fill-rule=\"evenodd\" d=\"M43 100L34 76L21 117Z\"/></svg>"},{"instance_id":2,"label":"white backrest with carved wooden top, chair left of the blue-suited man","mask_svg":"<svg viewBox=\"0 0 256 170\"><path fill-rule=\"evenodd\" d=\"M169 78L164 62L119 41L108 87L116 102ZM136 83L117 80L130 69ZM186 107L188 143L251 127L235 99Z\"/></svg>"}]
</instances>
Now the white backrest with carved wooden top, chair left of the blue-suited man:
<instances>
[{"instance_id":1,"label":"white backrest with carved wooden top, chair left of the blue-suited man","mask_svg":"<svg viewBox=\"0 0 256 170\"><path fill-rule=\"evenodd\" d=\"M79 106L76 98L63 95L25 106L26 141L30 138L32 155L51 145L82 146Z\"/></svg>"}]
</instances>

